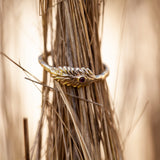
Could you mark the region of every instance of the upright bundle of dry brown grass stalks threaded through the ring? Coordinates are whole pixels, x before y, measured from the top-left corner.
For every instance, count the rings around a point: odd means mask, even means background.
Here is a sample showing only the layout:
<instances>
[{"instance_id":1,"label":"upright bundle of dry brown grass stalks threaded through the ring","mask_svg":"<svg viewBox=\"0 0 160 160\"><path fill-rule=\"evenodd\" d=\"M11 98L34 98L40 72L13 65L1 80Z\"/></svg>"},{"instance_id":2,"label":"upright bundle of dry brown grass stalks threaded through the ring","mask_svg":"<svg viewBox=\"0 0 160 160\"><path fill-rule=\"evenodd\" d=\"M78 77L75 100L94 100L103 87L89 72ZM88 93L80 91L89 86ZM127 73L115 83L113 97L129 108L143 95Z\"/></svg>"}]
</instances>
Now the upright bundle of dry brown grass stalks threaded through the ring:
<instances>
[{"instance_id":1,"label":"upright bundle of dry brown grass stalks threaded through the ring","mask_svg":"<svg viewBox=\"0 0 160 160\"><path fill-rule=\"evenodd\" d=\"M45 59L48 59L47 45L50 44L53 66L88 67L95 74L102 73L98 28L104 1L44 0L40 1L40 9ZM55 23L56 34L53 32ZM41 159L42 154L45 118L47 160L123 159L106 81L78 89L60 85L44 71L43 82L53 85L56 91L43 88L37 159Z\"/></svg>"}]
</instances>

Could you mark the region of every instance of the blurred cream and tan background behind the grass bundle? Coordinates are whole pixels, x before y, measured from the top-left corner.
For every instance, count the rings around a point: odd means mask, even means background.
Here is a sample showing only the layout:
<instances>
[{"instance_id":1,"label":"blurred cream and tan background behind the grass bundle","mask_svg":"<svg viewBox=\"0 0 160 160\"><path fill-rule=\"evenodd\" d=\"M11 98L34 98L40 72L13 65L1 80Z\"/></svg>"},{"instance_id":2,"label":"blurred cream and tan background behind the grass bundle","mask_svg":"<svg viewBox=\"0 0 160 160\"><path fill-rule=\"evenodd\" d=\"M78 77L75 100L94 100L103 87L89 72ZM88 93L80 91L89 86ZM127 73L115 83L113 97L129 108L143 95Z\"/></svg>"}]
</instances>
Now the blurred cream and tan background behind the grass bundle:
<instances>
[{"instance_id":1,"label":"blurred cream and tan background behind the grass bundle","mask_svg":"<svg viewBox=\"0 0 160 160\"><path fill-rule=\"evenodd\" d=\"M101 52L110 68L107 82L126 160L160 159L159 6L157 0L107 0L105 6ZM0 0L0 24L0 51L42 79L38 0ZM2 160L24 158L24 117L29 120L30 147L35 138L41 92L24 77L0 57Z\"/></svg>"}]
</instances>

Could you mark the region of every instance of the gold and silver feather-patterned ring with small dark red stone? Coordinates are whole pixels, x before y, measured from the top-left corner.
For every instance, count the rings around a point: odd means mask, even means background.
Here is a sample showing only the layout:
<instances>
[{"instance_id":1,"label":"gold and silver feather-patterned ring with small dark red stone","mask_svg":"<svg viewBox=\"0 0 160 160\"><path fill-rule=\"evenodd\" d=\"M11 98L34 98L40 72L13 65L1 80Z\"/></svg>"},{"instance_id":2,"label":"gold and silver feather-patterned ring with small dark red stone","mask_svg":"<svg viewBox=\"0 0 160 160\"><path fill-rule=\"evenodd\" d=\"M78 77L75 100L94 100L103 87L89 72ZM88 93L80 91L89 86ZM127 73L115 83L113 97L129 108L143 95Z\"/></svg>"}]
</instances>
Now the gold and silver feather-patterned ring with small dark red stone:
<instances>
[{"instance_id":1,"label":"gold and silver feather-patterned ring with small dark red stone","mask_svg":"<svg viewBox=\"0 0 160 160\"><path fill-rule=\"evenodd\" d=\"M63 85L72 87L83 87L90 83L104 80L109 75L109 69L106 65L103 73L95 75L89 68L73 68L73 67L52 67L47 64L43 59L43 54L38 58L41 66L50 73L51 77L59 81Z\"/></svg>"}]
</instances>

